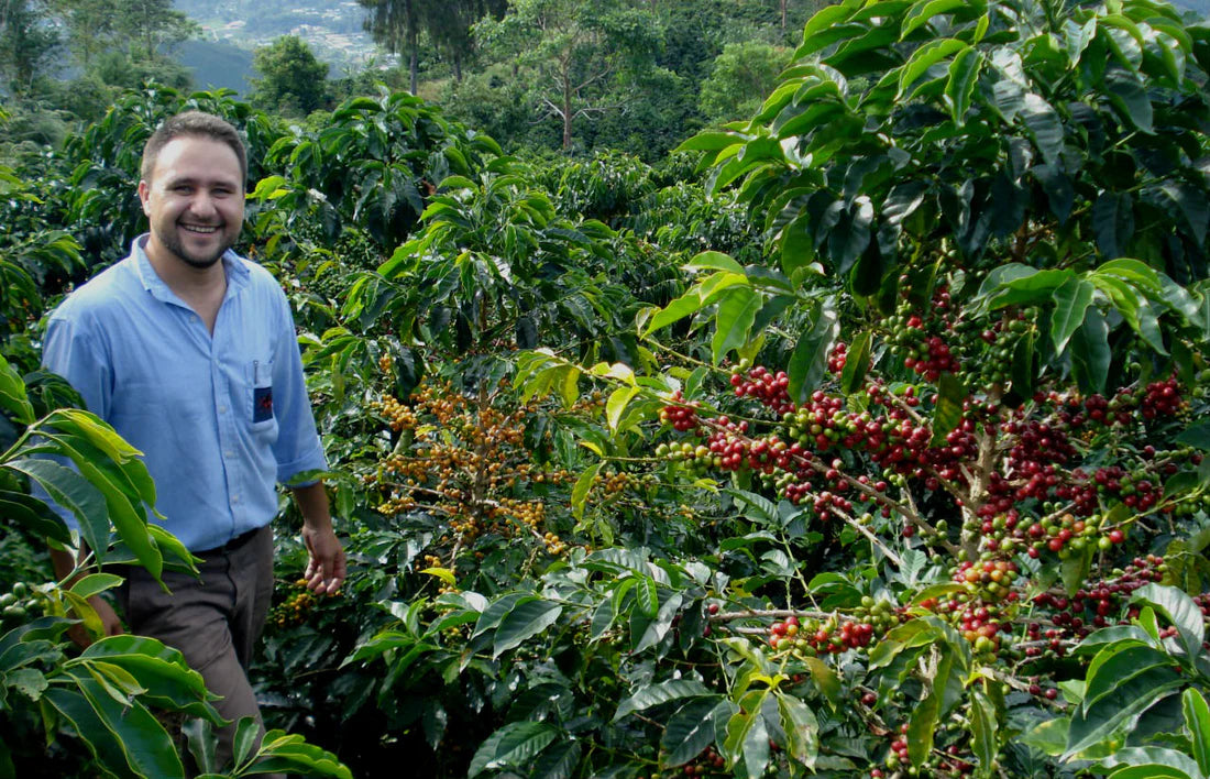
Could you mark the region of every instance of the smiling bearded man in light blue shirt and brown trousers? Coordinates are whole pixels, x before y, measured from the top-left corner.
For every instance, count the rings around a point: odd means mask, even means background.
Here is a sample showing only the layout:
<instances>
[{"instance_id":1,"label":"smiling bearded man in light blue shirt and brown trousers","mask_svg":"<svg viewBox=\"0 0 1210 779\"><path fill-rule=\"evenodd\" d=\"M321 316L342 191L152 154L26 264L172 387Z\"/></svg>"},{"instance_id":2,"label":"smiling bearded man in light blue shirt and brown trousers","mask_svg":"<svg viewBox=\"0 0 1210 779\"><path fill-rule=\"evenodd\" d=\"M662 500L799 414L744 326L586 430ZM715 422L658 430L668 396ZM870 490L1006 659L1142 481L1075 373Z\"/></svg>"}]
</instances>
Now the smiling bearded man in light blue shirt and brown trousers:
<instances>
[{"instance_id":1,"label":"smiling bearded man in light blue shirt and brown trousers","mask_svg":"<svg viewBox=\"0 0 1210 779\"><path fill-rule=\"evenodd\" d=\"M45 365L144 452L165 527L201 577L132 569L119 602L133 633L180 650L227 720L259 720L246 669L272 595L277 483L325 468L294 322L267 271L231 252L243 224L247 156L225 121L189 111L151 135L138 194L150 233L51 317ZM333 594L345 553L322 483L292 487L312 590ZM56 572L75 567L53 552ZM114 610L93 601L106 634ZM230 758L234 725L220 731Z\"/></svg>"}]
</instances>

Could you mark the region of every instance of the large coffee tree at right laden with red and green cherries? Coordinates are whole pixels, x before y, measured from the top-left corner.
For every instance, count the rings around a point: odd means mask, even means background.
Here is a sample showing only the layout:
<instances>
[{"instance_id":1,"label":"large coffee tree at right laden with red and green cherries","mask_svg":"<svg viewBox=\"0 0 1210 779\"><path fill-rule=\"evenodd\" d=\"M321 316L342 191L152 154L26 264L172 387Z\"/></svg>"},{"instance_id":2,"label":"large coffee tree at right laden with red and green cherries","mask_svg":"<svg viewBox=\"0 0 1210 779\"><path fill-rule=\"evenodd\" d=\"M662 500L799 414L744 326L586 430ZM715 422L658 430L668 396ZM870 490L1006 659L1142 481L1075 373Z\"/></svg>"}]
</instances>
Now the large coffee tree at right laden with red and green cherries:
<instances>
[{"instance_id":1,"label":"large coffee tree at right laden with red and green cherries","mask_svg":"<svg viewBox=\"0 0 1210 779\"><path fill-rule=\"evenodd\" d=\"M617 379L615 440L661 397L656 455L748 530L693 606L728 694L635 693L716 719L727 771L1205 771L1205 35L1150 2L828 7L751 121L682 146L773 261L699 255L640 330L713 325L730 392L692 354L525 364Z\"/></svg>"}]
</instances>

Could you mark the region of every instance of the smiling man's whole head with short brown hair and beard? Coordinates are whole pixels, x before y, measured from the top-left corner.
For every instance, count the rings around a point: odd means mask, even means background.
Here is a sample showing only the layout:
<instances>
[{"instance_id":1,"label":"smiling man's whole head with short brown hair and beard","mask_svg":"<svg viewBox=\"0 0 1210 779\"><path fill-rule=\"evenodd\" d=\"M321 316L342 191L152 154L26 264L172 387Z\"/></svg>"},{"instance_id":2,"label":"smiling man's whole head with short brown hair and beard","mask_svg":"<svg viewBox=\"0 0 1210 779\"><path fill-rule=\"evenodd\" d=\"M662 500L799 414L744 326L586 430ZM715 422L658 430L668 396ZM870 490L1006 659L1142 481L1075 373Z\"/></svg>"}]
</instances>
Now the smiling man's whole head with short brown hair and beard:
<instances>
[{"instance_id":1,"label":"smiling man's whole head with short brown hair and beard","mask_svg":"<svg viewBox=\"0 0 1210 779\"><path fill-rule=\"evenodd\" d=\"M238 133L209 114L166 121L143 150L139 200L151 225L146 253L162 273L179 261L206 271L243 226L247 156Z\"/></svg>"}]
</instances>

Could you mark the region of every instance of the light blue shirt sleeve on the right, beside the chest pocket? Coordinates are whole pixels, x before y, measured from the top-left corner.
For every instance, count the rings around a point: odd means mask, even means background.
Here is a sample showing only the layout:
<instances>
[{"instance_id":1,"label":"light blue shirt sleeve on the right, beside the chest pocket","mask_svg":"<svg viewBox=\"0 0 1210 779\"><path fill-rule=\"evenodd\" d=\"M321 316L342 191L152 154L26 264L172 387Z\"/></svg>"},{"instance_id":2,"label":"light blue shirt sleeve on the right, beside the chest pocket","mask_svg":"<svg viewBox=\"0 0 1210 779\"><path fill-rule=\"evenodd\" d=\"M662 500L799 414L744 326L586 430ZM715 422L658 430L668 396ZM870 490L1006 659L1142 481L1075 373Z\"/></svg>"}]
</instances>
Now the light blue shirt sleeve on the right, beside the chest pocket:
<instances>
[{"instance_id":1,"label":"light blue shirt sleeve on the right, beside the chest pocket","mask_svg":"<svg viewBox=\"0 0 1210 779\"><path fill-rule=\"evenodd\" d=\"M289 481L304 471L325 471L328 458L315 427L311 400L302 375L302 354L299 350L294 318L286 294L278 290L281 330L273 356L273 405L277 415L277 480Z\"/></svg>"}]
</instances>

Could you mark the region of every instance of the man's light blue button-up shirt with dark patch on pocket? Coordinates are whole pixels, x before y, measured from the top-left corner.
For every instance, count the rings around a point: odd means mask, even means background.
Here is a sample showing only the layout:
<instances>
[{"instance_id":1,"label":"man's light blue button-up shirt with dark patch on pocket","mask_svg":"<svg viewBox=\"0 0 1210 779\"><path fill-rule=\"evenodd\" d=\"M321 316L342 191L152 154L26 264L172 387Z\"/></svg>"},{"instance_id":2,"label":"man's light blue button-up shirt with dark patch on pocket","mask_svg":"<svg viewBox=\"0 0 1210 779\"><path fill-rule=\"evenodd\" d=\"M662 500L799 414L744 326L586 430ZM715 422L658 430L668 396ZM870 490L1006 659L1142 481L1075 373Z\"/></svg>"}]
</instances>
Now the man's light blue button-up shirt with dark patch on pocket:
<instances>
[{"instance_id":1,"label":"man's light blue button-up shirt with dark patch on pocket","mask_svg":"<svg viewBox=\"0 0 1210 779\"><path fill-rule=\"evenodd\" d=\"M269 524L276 484L327 460L277 281L227 250L212 335L144 241L54 311L42 363L144 454L163 526L202 552Z\"/></svg>"}]
</instances>

